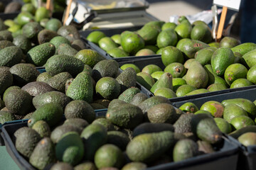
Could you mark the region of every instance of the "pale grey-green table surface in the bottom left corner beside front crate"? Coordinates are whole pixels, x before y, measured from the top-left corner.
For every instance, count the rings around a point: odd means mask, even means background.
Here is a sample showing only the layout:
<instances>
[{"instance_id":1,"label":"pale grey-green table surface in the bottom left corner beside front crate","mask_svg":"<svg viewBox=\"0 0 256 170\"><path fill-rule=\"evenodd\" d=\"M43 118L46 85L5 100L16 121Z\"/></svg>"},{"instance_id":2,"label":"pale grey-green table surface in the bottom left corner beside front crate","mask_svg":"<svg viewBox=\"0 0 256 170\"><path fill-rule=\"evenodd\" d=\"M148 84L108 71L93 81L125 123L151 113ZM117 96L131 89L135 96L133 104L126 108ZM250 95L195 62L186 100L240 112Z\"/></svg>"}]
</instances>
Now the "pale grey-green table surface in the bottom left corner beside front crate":
<instances>
[{"instance_id":1,"label":"pale grey-green table surface in the bottom left corner beside front crate","mask_svg":"<svg viewBox=\"0 0 256 170\"><path fill-rule=\"evenodd\" d=\"M5 170L19 170L17 164L11 159L10 155L6 151L5 146L0 147L0 169Z\"/></svg>"}]
</instances>

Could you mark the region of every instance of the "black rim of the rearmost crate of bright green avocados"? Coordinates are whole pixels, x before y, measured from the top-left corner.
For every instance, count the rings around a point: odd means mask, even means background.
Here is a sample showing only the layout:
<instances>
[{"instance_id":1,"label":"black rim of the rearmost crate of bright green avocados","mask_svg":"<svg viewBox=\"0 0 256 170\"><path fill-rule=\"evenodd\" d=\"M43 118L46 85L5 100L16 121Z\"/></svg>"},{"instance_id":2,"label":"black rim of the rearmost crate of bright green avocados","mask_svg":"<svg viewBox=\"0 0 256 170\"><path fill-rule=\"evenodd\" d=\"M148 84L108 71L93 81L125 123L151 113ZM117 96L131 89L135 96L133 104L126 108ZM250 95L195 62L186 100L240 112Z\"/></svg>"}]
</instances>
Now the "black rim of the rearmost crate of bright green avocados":
<instances>
[{"instance_id":1,"label":"black rim of the rearmost crate of bright green avocados","mask_svg":"<svg viewBox=\"0 0 256 170\"><path fill-rule=\"evenodd\" d=\"M99 30L105 33L105 35L107 35L108 37L110 37L114 34L120 34L124 30L135 31L135 30L139 30L139 28L142 28L142 26L134 26L134 27L127 27L127 28L105 28L105 29L99 29ZM105 50L102 50L95 43L86 40L87 35L92 33L92 31L94 30L80 31L80 36L82 37L82 39L85 40L87 46L89 46L92 50L97 51L100 55L104 56L106 59L113 59L113 60L116 60L117 62L123 62L123 61L139 60L139 59L145 59L145 58L151 58L151 57L161 57L161 55L128 56L128 57L119 57L119 58L111 57L109 54L107 54L107 52L105 52Z\"/></svg>"}]
</instances>

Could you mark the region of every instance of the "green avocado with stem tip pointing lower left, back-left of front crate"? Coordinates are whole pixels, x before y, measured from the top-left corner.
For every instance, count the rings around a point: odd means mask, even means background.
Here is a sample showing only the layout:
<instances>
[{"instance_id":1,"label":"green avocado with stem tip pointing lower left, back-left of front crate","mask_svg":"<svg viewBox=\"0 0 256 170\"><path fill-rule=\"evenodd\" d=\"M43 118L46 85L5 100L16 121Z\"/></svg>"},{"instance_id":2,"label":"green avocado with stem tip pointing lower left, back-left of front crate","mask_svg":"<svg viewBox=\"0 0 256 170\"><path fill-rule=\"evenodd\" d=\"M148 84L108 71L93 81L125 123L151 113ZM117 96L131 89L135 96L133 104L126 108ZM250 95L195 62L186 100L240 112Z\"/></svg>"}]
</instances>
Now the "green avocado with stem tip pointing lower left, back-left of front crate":
<instances>
[{"instance_id":1,"label":"green avocado with stem tip pointing lower left, back-left of front crate","mask_svg":"<svg viewBox=\"0 0 256 170\"><path fill-rule=\"evenodd\" d=\"M55 103L46 103L38 108L28 120L28 127L32 127L38 120L44 120L49 126L56 125L63 116L63 108Z\"/></svg>"}]
</instances>

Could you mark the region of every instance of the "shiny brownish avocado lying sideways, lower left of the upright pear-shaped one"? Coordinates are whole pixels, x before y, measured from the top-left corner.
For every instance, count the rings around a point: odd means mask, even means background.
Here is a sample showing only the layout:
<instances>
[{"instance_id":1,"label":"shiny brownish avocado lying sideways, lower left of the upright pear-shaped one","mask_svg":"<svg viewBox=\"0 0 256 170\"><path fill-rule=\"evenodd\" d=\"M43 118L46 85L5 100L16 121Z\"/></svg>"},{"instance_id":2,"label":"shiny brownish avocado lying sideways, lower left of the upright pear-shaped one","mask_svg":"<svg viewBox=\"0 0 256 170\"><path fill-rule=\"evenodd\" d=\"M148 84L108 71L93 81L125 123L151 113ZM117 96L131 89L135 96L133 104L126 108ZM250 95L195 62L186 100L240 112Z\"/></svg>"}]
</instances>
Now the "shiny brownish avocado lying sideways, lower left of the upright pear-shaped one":
<instances>
[{"instance_id":1,"label":"shiny brownish avocado lying sideways, lower left of the upright pear-shaped one","mask_svg":"<svg viewBox=\"0 0 256 170\"><path fill-rule=\"evenodd\" d=\"M35 108L40 108L46 103L55 103L64 109L69 102L70 98L59 91L49 91L33 98L33 106Z\"/></svg>"}]
</instances>

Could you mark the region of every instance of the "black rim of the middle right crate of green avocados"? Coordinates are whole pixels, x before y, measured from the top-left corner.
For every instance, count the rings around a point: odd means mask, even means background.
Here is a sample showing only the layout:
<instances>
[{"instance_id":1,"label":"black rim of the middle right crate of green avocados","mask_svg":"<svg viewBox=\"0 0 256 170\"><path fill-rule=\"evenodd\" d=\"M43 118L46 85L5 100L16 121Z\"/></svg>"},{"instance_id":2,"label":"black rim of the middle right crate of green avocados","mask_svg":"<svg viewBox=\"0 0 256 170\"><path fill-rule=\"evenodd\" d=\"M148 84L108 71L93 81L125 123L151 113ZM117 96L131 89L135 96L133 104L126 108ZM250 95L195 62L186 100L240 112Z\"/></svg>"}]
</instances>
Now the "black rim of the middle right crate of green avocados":
<instances>
[{"instance_id":1,"label":"black rim of the middle right crate of green avocados","mask_svg":"<svg viewBox=\"0 0 256 170\"><path fill-rule=\"evenodd\" d=\"M161 57L152 57L152 58L146 58L146 59L140 59L140 60L122 61L122 62L119 62L119 67L121 67L123 64L135 64L141 70L146 65L149 65L149 64L156 64L163 70L165 68L163 62L161 61ZM191 96L182 96L182 97L176 97L176 98L169 98L169 101L171 101L171 102L188 101L188 100L192 100L194 98L202 98L202 97L207 98L208 96L221 95L221 94L230 94L231 92L245 91L247 89L255 89L256 90L256 85L245 86L245 87L240 87L240 88L235 88L235 89L225 89L225 90L221 90L221 91L212 91L212 92L208 92L208 93L204 93L204 94L195 94L195 95L191 95Z\"/></svg>"}]
</instances>

